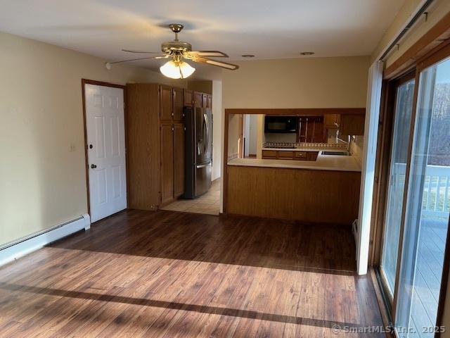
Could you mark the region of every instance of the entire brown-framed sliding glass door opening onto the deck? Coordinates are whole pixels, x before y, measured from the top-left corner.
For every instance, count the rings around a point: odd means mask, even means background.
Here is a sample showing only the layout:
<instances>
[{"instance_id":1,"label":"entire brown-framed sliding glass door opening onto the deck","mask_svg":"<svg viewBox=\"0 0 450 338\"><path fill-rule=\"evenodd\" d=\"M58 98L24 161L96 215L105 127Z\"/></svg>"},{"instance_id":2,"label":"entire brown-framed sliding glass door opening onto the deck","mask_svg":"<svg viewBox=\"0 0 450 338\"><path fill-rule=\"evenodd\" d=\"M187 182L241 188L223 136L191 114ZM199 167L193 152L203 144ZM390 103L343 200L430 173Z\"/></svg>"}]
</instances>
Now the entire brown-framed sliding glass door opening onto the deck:
<instances>
[{"instance_id":1,"label":"entire brown-framed sliding glass door opening onto the deck","mask_svg":"<svg viewBox=\"0 0 450 338\"><path fill-rule=\"evenodd\" d=\"M450 262L450 45L391 81L386 103L378 273L397 337L432 338Z\"/></svg>"}]
</instances>

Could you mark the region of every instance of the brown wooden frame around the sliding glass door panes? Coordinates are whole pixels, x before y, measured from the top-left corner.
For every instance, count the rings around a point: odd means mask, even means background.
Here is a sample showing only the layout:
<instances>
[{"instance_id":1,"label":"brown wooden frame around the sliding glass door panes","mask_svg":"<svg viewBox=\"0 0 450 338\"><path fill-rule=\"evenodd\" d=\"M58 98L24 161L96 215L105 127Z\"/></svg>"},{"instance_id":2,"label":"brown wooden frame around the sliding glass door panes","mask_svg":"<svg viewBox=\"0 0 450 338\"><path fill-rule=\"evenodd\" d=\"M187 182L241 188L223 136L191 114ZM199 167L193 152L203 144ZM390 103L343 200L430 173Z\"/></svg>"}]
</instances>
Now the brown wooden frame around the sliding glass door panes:
<instances>
[{"instance_id":1,"label":"brown wooden frame around the sliding glass door panes","mask_svg":"<svg viewBox=\"0 0 450 338\"><path fill-rule=\"evenodd\" d=\"M450 30L450 28L449 28ZM411 170L411 156L412 156L412 147L413 147L413 137L414 130L416 126L416 113L417 113L417 104L418 104L418 87L420 85L420 73L428 68L430 65L438 63L439 61L444 60L450 56L450 40L442 42L434 49L428 52L425 56L418 59L418 61L413 65L413 68L409 68L409 70L401 73L401 75L385 80L383 83L383 91L385 92L385 96L382 98L382 111L383 111L383 120L380 120L380 123L383 125L381 134L378 141L378 151L377 151L377 167L375 168L376 175L378 175L378 187L377 189L377 198L374 201L375 205L375 220L372 223L373 229L373 239L374 239L374 248L372 251L372 263L375 266L375 272L378 275L378 283L383 293L383 300L385 302L385 307L388 310L390 315L389 320L394 323L396 319L396 310L397 310L397 296L398 296L398 287L399 287L399 274L400 274L400 265L401 265L401 251L404 237L404 223L405 223L405 213L406 213L406 202L408 197L408 189L409 189L409 172ZM411 78L416 79L415 88L414 88L414 97L413 97L413 112L411 115L411 125L410 125L410 134L409 134L409 146L408 146L408 158L406 161L406 178L405 178L405 187L404 187L404 199L403 199L403 209L401 215L401 228L399 233L399 249L397 254L397 272L395 277L395 286L394 286L394 299L392 299L392 303L389 299L386 299L385 290L383 284L380 284L380 278L382 277L380 274L380 263L381 257L383 255L383 236L384 236L384 227L385 227L385 214L387 209L387 184L388 184L388 171L390 168L390 160L391 160L391 149L392 149L392 139L393 139L393 121L394 121L394 111L395 111L395 99L396 99L396 89L399 84L405 82ZM386 155L386 153L388 155ZM383 193L383 194L382 194ZM449 218L449 227L448 227L447 235L446 235L446 246L444 249L444 262L442 268L442 279L439 290L439 302L437 304L437 318L436 318L436 326L440 327L442 325L443 315L444 315L444 304L446 302L446 291L448 286L448 280L450 275L450 218ZM389 311L390 310L390 311ZM435 333L435 337L440 337L440 332Z\"/></svg>"}]
</instances>

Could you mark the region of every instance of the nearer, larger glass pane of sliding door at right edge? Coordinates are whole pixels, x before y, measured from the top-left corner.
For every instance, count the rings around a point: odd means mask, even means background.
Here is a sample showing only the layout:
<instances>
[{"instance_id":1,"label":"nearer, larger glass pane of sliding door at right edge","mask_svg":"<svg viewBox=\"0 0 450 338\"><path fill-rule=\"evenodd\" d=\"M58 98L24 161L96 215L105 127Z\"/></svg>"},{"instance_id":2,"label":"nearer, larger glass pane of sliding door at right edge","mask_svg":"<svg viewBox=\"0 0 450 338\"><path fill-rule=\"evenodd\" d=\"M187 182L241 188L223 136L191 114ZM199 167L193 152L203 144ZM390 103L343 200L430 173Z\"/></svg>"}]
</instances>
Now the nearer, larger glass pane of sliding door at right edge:
<instances>
[{"instance_id":1,"label":"nearer, larger glass pane of sliding door at right edge","mask_svg":"<svg viewBox=\"0 0 450 338\"><path fill-rule=\"evenodd\" d=\"M450 211L450 60L420 73L395 327L434 337Z\"/></svg>"}]
</instances>

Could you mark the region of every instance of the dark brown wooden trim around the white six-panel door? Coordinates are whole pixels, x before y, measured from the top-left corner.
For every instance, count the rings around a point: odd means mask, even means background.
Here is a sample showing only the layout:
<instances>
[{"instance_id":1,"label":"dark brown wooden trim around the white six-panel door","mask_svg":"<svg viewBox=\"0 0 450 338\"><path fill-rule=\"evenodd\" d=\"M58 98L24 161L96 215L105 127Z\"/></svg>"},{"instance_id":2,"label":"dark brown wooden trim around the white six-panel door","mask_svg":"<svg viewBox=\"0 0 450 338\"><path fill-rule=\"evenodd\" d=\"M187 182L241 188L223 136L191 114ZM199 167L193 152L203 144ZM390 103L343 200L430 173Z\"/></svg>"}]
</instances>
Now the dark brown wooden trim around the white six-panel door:
<instances>
[{"instance_id":1,"label":"dark brown wooden trim around the white six-panel door","mask_svg":"<svg viewBox=\"0 0 450 338\"><path fill-rule=\"evenodd\" d=\"M91 215L91 192L89 189L89 157L87 154L87 128L86 128L86 91L84 89L86 84L94 84L96 86L102 87L113 87L122 89L124 92L124 135L125 135L125 179L127 184L127 208L128 208L128 155L127 155L127 147L128 147L128 136L127 136L127 87L123 84L115 84L110 82L102 82L96 80L88 80L82 78L82 101L83 101L83 128L84 128L84 169L86 170L86 194L87 194L87 213Z\"/></svg>"}]
</instances>

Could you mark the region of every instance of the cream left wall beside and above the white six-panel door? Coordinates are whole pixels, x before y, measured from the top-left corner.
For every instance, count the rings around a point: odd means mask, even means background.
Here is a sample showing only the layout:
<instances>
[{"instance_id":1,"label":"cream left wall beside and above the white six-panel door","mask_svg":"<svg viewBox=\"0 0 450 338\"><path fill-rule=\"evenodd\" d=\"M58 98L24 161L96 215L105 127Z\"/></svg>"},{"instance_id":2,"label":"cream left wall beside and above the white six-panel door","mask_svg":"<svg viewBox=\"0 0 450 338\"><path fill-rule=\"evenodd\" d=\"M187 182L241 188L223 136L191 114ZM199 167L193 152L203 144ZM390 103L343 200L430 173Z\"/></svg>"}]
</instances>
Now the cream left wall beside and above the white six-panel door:
<instances>
[{"instance_id":1,"label":"cream left wall beside and above the white six-panel door","mask_svg":"<svg viewBox=\"0 0 450 338\"><path fill-rule=\"evenodd\" d=\"M1 245L87 211L81 79L164 79L14 35L0 46Z\"/></svg>"}]
</instances>

